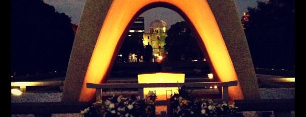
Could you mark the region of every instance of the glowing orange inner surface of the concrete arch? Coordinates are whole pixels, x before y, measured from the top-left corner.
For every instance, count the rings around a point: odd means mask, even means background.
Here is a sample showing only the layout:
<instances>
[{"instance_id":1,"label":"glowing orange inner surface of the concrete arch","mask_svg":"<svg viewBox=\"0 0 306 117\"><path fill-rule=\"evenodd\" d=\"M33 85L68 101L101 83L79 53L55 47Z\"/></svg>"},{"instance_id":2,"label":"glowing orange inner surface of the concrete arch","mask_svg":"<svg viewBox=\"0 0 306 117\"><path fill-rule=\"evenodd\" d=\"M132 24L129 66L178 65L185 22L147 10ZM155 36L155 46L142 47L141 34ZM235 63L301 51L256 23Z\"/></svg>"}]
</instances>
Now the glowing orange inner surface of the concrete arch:
<instances>
[{"instance_id":1,"label":"glowing orange inner surface of the concrete arch","mask_svg":"<svg viewBox=\"0 0 306 117\"><path fill-rule=\"evenodd\" d=\"M94 47L79 101L94 99L95 90L87 89L86 83L103 83L105 81L108 67L112 57L116 54L115 50L121 35L133 17L138 15L136 13L144 12L143 7L149 4L157 6L170 4L179 8L181 10L179 13L185 15L183 18L190 21L201 38L217 78L222 82L237 80L222 35L206 0L113 0ZM243 99L240 87L230 88L229 96L231 95L238 97L237 99Z\"/></svg>"}]
</instances>

